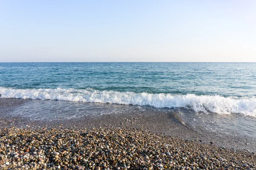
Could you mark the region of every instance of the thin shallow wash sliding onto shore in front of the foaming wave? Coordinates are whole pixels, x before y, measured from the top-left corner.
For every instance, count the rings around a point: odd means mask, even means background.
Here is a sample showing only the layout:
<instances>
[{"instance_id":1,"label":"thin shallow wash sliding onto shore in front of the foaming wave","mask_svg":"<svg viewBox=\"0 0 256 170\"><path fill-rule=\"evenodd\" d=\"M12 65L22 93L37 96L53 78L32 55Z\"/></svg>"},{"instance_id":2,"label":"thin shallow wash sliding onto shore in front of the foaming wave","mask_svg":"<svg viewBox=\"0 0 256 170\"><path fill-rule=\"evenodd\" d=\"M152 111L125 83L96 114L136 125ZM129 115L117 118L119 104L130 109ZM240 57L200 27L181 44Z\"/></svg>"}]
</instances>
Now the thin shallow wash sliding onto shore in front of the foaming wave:
<instances>
[{"instance_id":1,"label":"thin shallow wash sliding onto shore in front of the foaming wave","mask_svg":"<svg viewBox=\"0 0 256 170\"><path fill-rule=\"evenodd\" d=\"M10 101L10 100L9 100ZM1 104L4 100L1 100ZM3 112L3 111L2 111ZM193 130L200 132L201 129L211 133L223 135L242 135L256 139L255 118L241 115L218 115L213 113L196 113L191 109L177 108L153 108L138 105L116 105L87 102L66 102L55 100L31 100L25 102L9 111L10 117L22 116L31 121L55 122L56 120L86 119L87 116L102 116L105 114L131 114L141 112L170 113ZM1 111L0 111L1 113ZM157 118L157 114L155 115Z\"/></svg>"}]
</instances>

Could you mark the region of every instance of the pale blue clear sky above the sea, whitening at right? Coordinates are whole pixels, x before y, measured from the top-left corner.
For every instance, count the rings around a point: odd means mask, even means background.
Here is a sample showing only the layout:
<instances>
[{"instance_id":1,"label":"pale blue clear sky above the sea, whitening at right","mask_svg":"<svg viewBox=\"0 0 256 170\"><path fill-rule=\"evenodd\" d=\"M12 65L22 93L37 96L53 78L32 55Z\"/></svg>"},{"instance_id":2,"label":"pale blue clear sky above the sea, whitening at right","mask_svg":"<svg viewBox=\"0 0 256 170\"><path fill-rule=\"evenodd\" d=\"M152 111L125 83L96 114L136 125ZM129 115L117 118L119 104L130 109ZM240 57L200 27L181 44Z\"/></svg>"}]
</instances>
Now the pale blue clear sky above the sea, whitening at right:
<instances>
[{"instance_id":1,"label":"pale blue clear sky above the sea, whitening at right","mask_svg":"<svg viewBox=\"0 0 256 170\"><path fill-rule=\"evenodd\" d=\"M0 0L0 62L256 62L256 1Z\"/></svg>"}]
</instances>

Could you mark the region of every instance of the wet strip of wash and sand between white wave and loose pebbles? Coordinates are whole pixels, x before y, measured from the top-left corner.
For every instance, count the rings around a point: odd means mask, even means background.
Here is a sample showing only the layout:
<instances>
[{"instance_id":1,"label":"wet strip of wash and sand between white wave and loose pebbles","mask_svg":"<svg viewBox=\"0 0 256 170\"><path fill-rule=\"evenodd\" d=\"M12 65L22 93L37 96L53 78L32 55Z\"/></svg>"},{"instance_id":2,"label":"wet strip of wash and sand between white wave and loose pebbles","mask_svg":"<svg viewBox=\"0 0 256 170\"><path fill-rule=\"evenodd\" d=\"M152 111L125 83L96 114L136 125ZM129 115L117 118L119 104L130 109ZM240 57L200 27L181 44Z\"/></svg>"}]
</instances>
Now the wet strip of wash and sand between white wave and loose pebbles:
<instances>
[{"instance_id":1,"label":"wet strip of wash and sand between white wave and loose pebbles","mask_svg":"<svg viewBox=\"0 0 256 170\"><path fill-rule=\"evenodd\" d=\"M180 136L221 147L255 151L255 121L250 116L195 113L184 108L0 98L3 127L143 127L153 133Z\"/></svg>"}]
</instances>

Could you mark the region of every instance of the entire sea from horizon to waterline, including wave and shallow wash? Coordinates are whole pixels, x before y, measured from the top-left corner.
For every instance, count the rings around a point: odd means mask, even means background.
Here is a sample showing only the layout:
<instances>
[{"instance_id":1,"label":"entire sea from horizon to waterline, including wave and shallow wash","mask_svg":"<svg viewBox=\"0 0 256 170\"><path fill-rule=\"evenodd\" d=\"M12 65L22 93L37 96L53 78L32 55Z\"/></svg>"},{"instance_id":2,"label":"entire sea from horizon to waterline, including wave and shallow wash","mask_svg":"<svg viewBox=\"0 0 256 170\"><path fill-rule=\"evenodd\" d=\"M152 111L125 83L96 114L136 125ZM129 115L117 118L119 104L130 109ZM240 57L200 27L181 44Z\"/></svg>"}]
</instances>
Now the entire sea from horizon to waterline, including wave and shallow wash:
<instances>
[{"instance_id":1,"label":"entire sea from horizon to waterline, including wave and shallow wash","mask_svg":"<svg viewBox=\"0 0 256 170\"><path fill-rule=\"evenodd\" d=\"M133 106L175 111L195 130L256 139L254 62L0 63L0 98L26 100L8 114L30 120L128 113Z\"/></svg>"}]
</instances>

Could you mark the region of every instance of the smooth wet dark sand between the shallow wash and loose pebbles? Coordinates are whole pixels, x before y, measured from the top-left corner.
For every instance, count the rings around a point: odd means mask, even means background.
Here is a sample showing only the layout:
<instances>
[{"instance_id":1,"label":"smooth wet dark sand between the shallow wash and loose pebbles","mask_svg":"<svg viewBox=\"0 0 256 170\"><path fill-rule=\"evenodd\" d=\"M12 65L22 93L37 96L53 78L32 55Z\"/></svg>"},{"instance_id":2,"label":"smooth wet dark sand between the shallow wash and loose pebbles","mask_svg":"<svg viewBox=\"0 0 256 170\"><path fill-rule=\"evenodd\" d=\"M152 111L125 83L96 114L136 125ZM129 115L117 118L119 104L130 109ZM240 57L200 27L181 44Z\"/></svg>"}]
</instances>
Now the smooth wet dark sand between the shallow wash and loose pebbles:
<instances>
[{"instance_id":1,"label":"smooth wet dark sand between the shallow wash and loose pebbles","mask_svg":"<svg viewBox=\"0 0 256 170\"><path fill-rule=\"evenodd\" d=\"M256 151L256 139L248 136L232 136L213 133L207 130L194 129L184 122L178 112L140 111L131 108L128 113L111 113L99 116L82 116L73 119L57 119L52 121L31 121L29 119L9 116L20 105L26 105L29 100L0 98L0 123L2 127L59 127L67 128L92 128L92 127L122 127L143 129L154 134L172 136L188 141L204 144L214 144L218 147L244 149Z\"/></svg>"}]
</instances>

